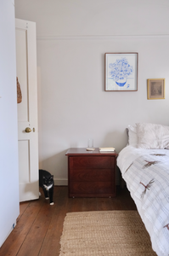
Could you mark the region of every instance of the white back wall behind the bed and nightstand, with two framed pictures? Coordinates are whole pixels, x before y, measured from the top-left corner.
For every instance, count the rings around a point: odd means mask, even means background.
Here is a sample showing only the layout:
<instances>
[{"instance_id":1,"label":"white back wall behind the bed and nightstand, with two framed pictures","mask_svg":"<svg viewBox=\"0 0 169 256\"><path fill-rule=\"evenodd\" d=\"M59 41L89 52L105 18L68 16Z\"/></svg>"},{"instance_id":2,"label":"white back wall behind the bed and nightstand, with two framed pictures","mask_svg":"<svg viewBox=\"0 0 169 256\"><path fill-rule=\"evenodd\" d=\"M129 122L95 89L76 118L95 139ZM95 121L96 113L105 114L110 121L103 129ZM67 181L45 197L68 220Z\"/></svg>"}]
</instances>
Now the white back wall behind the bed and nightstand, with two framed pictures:
<instances>
[{"instance_id":1,"label":"white back wall behind the bed and nightstand, with two framed pictures","mask_svg":"<svg viewBox=\"0 0 169 256\"><path fill-rule=\"evenodd\" d=\"M169 125L168 0L15 0L37 22L40 167L66 183L70 147L127 144L127 125ZM138 52L138 91L104 91L104 53ZM166 99L147 100L147 79L166 79Z\"/></svg>"}]
</instances>

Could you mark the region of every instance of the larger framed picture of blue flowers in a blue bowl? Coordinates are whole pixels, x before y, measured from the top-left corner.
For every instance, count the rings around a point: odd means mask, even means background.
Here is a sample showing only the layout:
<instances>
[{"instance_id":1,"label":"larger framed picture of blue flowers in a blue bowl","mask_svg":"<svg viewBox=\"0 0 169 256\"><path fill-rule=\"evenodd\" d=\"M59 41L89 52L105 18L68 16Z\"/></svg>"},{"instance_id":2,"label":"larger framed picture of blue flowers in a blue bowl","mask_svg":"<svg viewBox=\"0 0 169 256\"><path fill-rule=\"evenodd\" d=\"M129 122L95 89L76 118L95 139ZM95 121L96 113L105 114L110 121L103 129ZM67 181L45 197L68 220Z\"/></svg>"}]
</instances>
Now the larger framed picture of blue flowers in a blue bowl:
<instances>
[{"instance_id":1,"label":"larger framed picture of blue flowers in a blue bowl","mask_svg":"<svg viewBox=\"0 0 169 256\"><path fill-rule=\"evenodd\" d=\"M138 90L138 53L105 53L106 91Z\"/></svg>"}]
</instances>

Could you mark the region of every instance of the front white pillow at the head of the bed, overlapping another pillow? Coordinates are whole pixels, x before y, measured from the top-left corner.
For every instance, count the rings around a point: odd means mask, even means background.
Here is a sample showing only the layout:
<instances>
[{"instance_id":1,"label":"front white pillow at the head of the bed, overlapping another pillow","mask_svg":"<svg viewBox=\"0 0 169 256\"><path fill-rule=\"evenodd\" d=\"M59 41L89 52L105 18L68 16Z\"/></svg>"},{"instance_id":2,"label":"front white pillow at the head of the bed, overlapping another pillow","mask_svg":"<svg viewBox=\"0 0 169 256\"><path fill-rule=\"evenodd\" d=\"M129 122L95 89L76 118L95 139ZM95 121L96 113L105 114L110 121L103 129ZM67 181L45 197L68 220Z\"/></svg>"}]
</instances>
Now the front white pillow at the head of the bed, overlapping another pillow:
<instances>
[{"instance_id":1,"label":"front white pillow at the head of the bed, overlapping another pillow","mask_svg":"<svg viewBox=\"0 0 169 256\"><path fill-rule=\"evenodd\" d=\"M169 126L138 123L138 148L169 149Z\"/></svg>"}]
</instances>

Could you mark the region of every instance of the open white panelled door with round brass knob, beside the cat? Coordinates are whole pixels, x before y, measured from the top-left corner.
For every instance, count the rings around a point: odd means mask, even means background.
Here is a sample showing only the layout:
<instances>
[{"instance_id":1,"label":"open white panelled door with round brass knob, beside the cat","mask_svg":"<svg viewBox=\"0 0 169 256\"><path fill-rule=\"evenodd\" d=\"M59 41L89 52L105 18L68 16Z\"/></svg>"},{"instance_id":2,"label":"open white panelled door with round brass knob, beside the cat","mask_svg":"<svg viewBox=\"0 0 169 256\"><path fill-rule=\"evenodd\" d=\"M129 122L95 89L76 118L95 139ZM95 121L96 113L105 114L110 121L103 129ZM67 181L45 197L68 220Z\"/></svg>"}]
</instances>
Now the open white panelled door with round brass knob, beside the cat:
<instances>
[{"instance_id":1,"label":"open white panelled door with round brass knob, beside the cat","mask_svg":"<svg viewBox=\"0 0 169 256\"><path fill-rule=\"evenodd\" d=\"M39 197L36 24L16 19L15 32L16 73L22 94L17 104L20 201L29 201Z\"/></svg>"}]
</instances>

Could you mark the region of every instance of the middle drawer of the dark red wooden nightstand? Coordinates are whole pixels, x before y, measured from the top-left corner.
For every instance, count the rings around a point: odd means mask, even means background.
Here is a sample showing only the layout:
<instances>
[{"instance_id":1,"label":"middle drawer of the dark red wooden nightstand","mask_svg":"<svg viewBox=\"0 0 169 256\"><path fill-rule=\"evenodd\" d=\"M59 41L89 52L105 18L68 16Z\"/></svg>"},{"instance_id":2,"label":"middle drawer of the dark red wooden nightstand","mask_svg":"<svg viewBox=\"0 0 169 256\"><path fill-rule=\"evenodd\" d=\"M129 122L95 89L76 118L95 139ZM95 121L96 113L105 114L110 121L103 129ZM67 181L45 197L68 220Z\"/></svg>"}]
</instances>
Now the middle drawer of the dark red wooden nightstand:
<instances>
[{"instance_id":1,"label":"middle drawer of the dark red wooden nightstand","mask_svg":"<svg viewBox=\"0 0 169 256\"><path fill-rule=\"evenodd\" d=\"M113 177L112 169L70 169L70 182L110 182Z\"/></svg>"}]
</instances>

